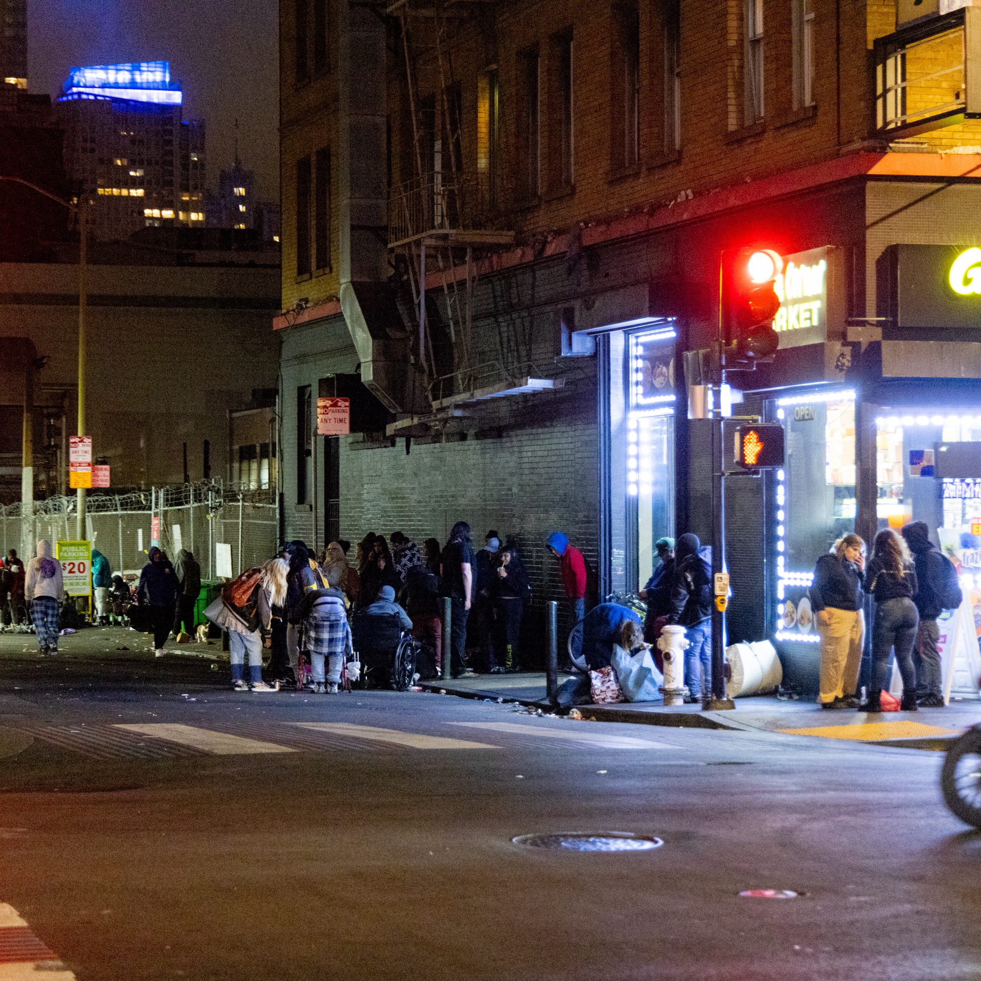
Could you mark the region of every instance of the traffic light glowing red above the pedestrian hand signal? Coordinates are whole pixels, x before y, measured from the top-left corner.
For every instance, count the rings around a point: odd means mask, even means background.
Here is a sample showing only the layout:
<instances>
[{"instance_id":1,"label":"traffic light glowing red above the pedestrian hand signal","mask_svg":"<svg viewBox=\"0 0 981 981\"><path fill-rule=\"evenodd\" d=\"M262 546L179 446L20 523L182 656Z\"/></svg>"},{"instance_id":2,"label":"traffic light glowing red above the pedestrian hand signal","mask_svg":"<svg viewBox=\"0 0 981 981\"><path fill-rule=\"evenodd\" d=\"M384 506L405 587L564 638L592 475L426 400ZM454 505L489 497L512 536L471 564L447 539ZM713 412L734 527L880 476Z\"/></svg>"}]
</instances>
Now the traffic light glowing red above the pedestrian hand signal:
<instances>
[{"instance_id":1,"label":"traffic light glowing red above the pedestrian hand signal","mask_svg":"<svg viewBox=\"0 0 981 981\"><path fill-rule=\"evenodd\" d=\"M740 249L725 263L723 326L730 358L754 364L776 351L780 336L773 318L780 309L775 288L784 260L772 249Z\"/></svg>"}]
</instances>

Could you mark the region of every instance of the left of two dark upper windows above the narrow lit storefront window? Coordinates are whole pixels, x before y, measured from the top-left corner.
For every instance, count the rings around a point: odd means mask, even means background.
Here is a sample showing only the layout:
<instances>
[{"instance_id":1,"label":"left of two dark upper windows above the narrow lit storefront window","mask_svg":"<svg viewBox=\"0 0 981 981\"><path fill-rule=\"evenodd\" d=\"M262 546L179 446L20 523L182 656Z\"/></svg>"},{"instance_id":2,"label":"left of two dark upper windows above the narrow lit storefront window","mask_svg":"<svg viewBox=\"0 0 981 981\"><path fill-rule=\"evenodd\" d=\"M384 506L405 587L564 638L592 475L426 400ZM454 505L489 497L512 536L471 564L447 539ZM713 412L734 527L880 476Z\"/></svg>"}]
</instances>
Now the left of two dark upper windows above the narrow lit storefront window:
<instances>
[{"instance_id":1,"label":"left of two dark upper windows above the narrow lit storefront window","mask_svg":"<svg viewBox=\"0 0 981 981\"><path fill-rule=\"evenodd\" d=\"M610 37L610 158L614 168L641 157L641 13L636 3L613 7Z\"/></svg>"}]
</instances>

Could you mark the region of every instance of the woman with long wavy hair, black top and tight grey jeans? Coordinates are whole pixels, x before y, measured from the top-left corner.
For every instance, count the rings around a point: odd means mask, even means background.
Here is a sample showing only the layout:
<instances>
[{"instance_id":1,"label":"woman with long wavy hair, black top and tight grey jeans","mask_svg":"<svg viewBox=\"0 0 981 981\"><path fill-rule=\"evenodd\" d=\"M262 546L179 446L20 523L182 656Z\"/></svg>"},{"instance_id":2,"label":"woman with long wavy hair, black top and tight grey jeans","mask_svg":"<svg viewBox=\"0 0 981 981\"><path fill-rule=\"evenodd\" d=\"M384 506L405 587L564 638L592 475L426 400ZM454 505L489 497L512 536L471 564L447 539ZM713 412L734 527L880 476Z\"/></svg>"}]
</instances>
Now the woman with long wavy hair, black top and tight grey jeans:
<instances>
[{"instance_id":1,"label":"woman with long wavy hair, black top and tight grey jeans","mask_svg":"<svg viewBox=\"0 0 981 981\"><path fill-rule=\"evenodd\" d=\"M904 540L885 529L875 537L872 557L865 573L868 592L875 599L872 620L872 688L866 712L881 712L880 698L889 687L889 654L896 651L896 663L903 676L904 712L916 711L916 669L913 645L919 627L919 613L913 596L919 592L916 567Z\"/></svg>"}]
</instances>

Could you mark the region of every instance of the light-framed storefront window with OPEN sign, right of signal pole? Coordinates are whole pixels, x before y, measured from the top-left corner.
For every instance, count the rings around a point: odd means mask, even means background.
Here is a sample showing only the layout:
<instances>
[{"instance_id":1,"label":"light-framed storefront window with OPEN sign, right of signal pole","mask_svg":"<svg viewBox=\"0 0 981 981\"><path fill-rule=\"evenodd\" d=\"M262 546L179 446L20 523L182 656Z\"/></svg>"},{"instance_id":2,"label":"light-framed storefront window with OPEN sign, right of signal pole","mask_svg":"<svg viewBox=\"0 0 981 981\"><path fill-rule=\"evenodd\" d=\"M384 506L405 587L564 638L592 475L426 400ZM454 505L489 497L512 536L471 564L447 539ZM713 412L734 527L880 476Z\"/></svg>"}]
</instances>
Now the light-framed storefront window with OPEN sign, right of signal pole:
<instances>
[{"instance_id":1,"label":"light-framed storefront window with OPEN sign, right of signal pole","mask_svg":"<svg viewBox=\"0 0 981 981\"><path fill-rule=\"evenodd\" d=\"M776 400L786 432L786 463L776 475L775 636L817 644L807 591L814 563L854 530L855 411L853 391L820 390Z\"/></svg>"}]
</instances>

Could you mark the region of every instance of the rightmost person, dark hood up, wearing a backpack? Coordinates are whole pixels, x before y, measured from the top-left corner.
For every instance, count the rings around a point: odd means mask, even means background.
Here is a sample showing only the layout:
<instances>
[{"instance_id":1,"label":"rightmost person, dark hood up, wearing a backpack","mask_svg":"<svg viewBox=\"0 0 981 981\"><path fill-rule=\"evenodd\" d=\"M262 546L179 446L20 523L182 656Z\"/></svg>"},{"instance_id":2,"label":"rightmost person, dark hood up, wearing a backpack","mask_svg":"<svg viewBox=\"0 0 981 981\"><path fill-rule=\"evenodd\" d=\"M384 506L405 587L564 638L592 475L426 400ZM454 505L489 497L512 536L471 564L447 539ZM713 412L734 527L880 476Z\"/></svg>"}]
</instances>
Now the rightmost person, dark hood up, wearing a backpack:
<instances>
[{"instance_id":1,"label":"rightmost person, dark hood up, wearing a backpack","mask_svg":"<svg viewBox=\"0 0 981 981\"><path fill-rule=\"evenodd\" d=\"M919 592L913 597L920 622L913 647L916 669L916 703L923 708L943 708L944 701L937 617L945 609L956 609L963 595L954 563L935 548L925 522L913 521L903 529L903 538L913 555Z\"/></svg>"}]
</instances>

